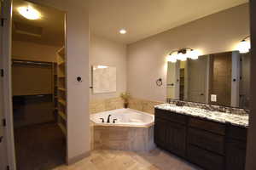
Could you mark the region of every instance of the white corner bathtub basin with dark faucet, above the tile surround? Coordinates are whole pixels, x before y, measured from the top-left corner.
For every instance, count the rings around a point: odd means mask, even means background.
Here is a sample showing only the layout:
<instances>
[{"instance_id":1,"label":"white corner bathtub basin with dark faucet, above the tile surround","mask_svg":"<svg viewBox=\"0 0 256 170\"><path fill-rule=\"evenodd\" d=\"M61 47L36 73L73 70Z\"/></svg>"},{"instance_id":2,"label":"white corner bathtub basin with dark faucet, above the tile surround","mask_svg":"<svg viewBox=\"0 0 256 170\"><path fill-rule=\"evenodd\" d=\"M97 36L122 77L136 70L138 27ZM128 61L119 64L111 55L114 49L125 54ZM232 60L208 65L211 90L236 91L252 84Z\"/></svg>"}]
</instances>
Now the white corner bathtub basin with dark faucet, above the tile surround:
<instances>
[{"instance_id":1,"label":"white corner bathtub basin with dark faucet, above the tile surround","mask_svg":"<svg viewBox=\"0 0 256 170\"><path fill-rule=\"evenodd\" d=\"M110 122L108 123L107 120L109 115L111 116L109 119ZM116 119L114 123L113 119ZM90 121L96 124L149 126L154 123L154 115L132 109L117 109L93 114L90 116Z\"/></svg>"}]
</instances>

